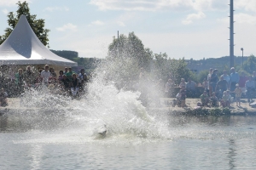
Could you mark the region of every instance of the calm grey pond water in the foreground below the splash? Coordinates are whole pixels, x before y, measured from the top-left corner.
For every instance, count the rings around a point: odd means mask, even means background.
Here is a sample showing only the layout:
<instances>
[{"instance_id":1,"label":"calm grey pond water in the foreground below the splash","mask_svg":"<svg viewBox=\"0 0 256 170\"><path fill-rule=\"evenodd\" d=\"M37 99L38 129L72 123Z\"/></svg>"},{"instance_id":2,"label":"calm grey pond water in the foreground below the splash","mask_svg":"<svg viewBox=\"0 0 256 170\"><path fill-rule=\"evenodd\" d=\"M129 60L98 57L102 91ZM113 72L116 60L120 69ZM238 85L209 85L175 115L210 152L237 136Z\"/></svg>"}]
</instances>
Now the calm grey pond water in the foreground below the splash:
<instances>
[{"instance_id":1,"label":"calm grey pond water in the foreground below the splash","mask_svg":"<svg viewBox=\"0 0 256 170\"><path fill-rule=\"evenodd\" d=\"M0 133L0 169L253 169L256 117L168 116L162 135L79 126L23 127ZM134 130L134 129L133 129ZM109 135L109 136L108 136Z\"/></svg>"}]
</instances>

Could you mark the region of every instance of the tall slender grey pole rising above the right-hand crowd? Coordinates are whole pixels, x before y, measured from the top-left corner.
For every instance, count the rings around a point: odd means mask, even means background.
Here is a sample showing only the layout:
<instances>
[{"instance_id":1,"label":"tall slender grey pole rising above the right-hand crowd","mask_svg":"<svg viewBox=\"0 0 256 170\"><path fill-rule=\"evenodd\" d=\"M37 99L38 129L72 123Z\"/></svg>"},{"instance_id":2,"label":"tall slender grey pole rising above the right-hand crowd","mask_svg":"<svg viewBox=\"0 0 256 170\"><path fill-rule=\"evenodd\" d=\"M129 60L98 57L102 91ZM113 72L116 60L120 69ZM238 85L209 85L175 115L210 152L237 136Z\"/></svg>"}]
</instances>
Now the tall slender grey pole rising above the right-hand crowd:
<instances>
[{"instance_id":1,"label":"tall slender grey pole rising above the right-hand crowd","mask_svg":"<svg viewBox=\"0 0 256 170\"><path fill-rule=\"evenodd\" d=\"M230 68L234 66L234 6L230 0Z\"/></svg>"}]
</instances>

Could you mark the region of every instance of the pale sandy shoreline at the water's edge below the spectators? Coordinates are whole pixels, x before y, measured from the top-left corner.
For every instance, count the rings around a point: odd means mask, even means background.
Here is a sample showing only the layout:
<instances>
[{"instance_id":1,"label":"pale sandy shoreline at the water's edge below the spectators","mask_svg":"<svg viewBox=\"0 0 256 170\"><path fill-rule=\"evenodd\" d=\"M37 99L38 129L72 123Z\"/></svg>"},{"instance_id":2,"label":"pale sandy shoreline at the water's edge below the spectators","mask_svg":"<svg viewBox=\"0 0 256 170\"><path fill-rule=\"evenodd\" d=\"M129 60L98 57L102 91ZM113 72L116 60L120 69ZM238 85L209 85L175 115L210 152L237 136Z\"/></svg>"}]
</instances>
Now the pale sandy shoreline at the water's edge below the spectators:
<instances>
[{"instance_id":1,"label":"pale sandy shoreline at the water's edge below the spectators","mask_svg":"<svg viewBox=\"0 0 256 170\"><path fill-rule=\"evenodd\" d=\"M148 111L153 112L163 112L172 115L186 115L186 116L196 116L196 115L231 115L231 116L246 116L246 115L255 115L256 108L250 106L247 102L247 99L241 99L241 107L236 106L236 102L233 102L230 105L230 109L218 107L202 107L201 109L195 109L198 102L201 102L201 99L186 99L187 107L181 108L172 107L172 100L175 98L161 98L160 105L149 106ZM22 110L44 110L45 108L26 108L20 106L19 98L8 98L8 104L5 107L0 107L0 116L6 115L8 113L19 113Z\"/></svg>"}]
</instances>

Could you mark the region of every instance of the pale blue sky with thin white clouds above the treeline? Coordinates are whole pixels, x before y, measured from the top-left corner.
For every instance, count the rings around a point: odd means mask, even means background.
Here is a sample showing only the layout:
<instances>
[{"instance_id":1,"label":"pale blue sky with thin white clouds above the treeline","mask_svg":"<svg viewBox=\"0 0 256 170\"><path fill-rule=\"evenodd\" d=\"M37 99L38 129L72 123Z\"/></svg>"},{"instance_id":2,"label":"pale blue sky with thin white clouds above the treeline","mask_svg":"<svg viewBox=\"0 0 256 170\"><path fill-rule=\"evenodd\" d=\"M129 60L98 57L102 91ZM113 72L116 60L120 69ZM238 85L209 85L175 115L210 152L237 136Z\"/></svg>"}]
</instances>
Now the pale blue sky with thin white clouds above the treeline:
<instances>
[{"instance_id":1,"label":"pale blue sky with thin white clouds above the treeline","mask_svg":"<svg viewBox=\"0 0 256 170\"><path fill-rule=\"evenodd\" d=\"M0 35L17 0L0 1ZM21 1L22 2L22 1ZM179 59L229 55L230 0L29 0L45 20L49 46L104 58L113 36L134 31L146 48ZM235 55L256 55L256 1L234 0Z\"/></svg>"}]
</instances>

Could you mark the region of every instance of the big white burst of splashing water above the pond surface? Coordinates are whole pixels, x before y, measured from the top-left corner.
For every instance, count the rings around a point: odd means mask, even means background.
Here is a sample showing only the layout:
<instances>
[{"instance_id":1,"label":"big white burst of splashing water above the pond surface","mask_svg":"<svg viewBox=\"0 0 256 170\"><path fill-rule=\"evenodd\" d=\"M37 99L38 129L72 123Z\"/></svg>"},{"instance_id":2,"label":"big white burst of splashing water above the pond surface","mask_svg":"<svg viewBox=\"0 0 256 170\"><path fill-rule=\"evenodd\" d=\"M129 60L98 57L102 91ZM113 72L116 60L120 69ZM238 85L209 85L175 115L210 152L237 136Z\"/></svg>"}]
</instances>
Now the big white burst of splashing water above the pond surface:
<instances>
[{"instance_id":1,"label":"big white burst of splashing water above the pond surface","mask_svg":"<svg viewBox=\"0 0 256 170\"><path fill-rule=\"evenodd\" d=\"M22 129L37 136L23 142L168 138L167 123L148 115L138 100L140 93L115 88L113 82L106 82L104 71L97 72L87 91L81 99L71 99L45 87L27 90L17 106L19 111L9 116L9 124L13 123L9 130ZM106 136L99 134L102 127L107 129Z\"/></svg>"}]
</instances>

